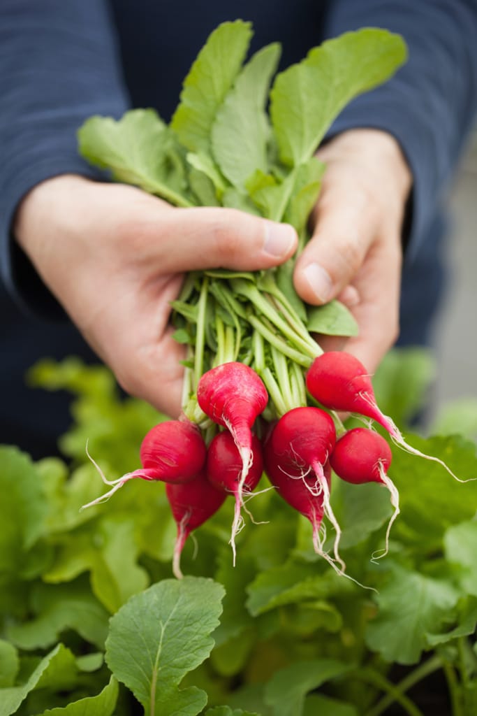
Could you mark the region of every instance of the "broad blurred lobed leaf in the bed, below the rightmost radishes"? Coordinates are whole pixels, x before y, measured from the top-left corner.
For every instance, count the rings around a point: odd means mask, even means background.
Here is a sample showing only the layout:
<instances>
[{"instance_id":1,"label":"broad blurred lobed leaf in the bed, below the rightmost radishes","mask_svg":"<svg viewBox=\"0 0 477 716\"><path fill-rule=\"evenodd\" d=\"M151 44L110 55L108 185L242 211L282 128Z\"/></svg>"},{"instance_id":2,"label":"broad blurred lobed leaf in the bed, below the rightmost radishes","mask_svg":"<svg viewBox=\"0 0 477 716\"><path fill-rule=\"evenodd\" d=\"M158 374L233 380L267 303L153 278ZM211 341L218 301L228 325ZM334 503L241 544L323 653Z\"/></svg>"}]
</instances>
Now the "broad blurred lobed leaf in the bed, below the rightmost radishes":
<instances>
[{"instance_id":1,"label":"broad blurred lobed leaf in the bed, below the rightmost radishes","mask_svg":"<svg viewBox=\"0 0 477 716\"><path fill-rule=\"evenodd\" d=\"M375 596L379 611L368 624L366 644L386 662L416 664L428 648L426 635L448 621L458 597L448 582L396 566Z\"/></svg>"}]
</instances>

